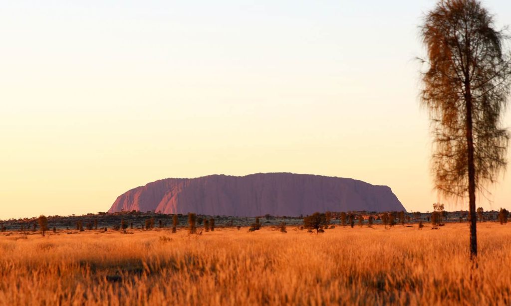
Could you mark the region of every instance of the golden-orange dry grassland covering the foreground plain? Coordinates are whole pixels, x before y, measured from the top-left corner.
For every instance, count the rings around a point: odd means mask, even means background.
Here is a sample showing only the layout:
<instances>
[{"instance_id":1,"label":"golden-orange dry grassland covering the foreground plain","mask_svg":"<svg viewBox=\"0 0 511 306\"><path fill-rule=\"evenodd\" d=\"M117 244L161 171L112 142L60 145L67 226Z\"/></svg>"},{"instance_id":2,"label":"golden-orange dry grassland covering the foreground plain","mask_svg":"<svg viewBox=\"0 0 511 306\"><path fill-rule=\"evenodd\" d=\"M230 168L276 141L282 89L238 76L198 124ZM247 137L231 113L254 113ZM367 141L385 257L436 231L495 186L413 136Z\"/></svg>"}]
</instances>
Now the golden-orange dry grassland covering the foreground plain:
<instances>
[{"instance_id":1,"label":"golden-orange dry grassland covering the foreground plain","mask_svg":"<svg viewBox=\"0 0 511 306\"><path fill-rule=\"evenodd\" d=\"M511 304L511 226L0 236L5 305ZM25 238L27 237L27 238Z\"/></svg>"}]
</instances>

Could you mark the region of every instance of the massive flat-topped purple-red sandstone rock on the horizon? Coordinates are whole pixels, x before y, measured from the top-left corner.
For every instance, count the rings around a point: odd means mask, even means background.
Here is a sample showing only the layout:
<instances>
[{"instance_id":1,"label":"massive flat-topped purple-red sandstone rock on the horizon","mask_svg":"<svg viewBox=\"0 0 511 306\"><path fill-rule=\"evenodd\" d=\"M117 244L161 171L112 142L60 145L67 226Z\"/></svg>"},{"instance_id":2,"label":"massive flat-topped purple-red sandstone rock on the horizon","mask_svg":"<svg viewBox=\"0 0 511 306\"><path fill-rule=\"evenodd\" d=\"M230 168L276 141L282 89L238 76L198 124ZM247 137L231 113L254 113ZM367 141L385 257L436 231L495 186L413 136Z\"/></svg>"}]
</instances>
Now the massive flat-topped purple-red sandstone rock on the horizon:
<instances>
[{"instance_id":1,"label":"massive flat-topped purple-red sandstone rock on the horizon","mask_svg":"<svg viewBox=\"0 0 511 306\"><path fill-rule=\"evenodd\" d=\"M159 180L120 195L108 212L122 210L254 217L405 209L387 186L340 177L257 173Z\"/></svg>"}]
</instances>

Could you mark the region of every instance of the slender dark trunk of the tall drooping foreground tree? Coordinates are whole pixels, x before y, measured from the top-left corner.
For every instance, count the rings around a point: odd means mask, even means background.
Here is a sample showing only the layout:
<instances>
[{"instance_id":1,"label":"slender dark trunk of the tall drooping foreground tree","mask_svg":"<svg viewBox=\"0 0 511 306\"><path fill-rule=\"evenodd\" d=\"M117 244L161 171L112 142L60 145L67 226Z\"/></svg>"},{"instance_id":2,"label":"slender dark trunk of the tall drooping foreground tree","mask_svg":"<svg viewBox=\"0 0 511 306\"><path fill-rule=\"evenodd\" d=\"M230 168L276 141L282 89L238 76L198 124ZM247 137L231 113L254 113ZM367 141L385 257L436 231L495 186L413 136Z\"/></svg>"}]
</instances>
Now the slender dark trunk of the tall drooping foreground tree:
<instances>
[{"instance_id":1,"label":"slender dark trunk of the tall drooping foreground tree","mask_svg":"<svg viewBox=\"0 0 511 306\"><path fill-rule=\"evenodd\" d=\"M477 257L476 184L474 165L474 139L472 137L472 93L468 76L465 79L465 106L467 111L467 157L469 170L470 258Z\"/></svg>"}]
</instances>

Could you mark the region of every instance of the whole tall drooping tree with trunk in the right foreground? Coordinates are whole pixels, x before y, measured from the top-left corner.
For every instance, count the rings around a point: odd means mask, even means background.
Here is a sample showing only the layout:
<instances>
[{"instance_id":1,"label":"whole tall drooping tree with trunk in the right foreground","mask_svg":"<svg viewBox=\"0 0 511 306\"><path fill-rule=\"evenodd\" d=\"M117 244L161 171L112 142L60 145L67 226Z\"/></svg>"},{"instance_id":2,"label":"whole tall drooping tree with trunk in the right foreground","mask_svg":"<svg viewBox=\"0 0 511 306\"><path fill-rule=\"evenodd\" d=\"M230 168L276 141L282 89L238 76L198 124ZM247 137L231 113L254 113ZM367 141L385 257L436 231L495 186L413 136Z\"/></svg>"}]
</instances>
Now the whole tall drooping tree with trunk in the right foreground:
<instances>
[{"instance_id":1,"label":"whole tall drooping tree with trunk in the right foreground","mask_svg":"<svg viewBox=\"0 0 511 306\"><path fill-rule=\"evenodd\" d=\"M469 198L470 251L477 256L476 193L506 166L501 115L509 94L507 37L477 0L440 0L421 28L427 49L421 100L431 116L435 188Z\"/></svg>"}]
</instances>

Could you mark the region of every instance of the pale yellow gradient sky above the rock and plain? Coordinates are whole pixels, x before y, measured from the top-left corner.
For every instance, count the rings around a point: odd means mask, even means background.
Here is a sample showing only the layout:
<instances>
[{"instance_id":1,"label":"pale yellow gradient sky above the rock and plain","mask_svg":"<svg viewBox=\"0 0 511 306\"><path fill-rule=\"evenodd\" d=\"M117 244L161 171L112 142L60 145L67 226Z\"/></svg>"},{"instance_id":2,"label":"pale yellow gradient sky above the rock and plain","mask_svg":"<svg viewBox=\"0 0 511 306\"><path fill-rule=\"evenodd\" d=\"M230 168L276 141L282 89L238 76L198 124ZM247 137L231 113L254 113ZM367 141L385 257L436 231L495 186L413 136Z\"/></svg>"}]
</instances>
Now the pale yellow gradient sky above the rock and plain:
<instances>
[{"instance_id":1,"label":"pale yellow gradient sky above the rock and plain","mask_svg":"<svg viewBox=\"0 0 511 306\"><path fill-rule=\"evenodd\" d=\"M352 177L431 211L414 58L434 4L1 2L0 219L107 211L165 177L257 172ZM511 24L511 2L484 4ZM510 183L478 206L511 208Z\"/></svg>"}]
</instances>

